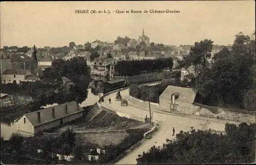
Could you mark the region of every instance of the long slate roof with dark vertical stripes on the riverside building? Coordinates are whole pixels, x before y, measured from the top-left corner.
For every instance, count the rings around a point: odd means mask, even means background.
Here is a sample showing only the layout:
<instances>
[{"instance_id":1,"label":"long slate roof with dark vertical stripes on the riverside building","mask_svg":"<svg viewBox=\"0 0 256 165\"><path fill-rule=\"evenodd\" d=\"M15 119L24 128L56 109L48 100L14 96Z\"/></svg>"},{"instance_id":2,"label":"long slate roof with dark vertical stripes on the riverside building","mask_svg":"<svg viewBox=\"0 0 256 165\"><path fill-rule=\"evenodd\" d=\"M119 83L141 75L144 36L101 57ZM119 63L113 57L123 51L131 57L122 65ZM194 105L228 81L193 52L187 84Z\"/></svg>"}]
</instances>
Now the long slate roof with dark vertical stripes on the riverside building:
<instances>
[{"instance_id":1,"label":"long slate roof with dark vertical stripes on the riverside building","mask_svg":"<svg viewBox=\"0 0 256 165\"><path fill-rule=\"evenodd\" d=\"M40 109L38 111L30 112L27 114L24 114L26 118L31 122L31 124L36 127L45 123L49 123L55 120L58 120L60 118L64 118L67 116L71 116L77 113L80 113L83 111L83 108L79 106L79 111L77 110L77 103L75 101L68 102L68 114L65 112L65 104L60 104L56 106L51 106L49 108ZM52 108L54 108L55 111L55 118L52 118ZM40 112L40 119L41 122L37 122L37 112Z\"/></svg>"}]
</instances>

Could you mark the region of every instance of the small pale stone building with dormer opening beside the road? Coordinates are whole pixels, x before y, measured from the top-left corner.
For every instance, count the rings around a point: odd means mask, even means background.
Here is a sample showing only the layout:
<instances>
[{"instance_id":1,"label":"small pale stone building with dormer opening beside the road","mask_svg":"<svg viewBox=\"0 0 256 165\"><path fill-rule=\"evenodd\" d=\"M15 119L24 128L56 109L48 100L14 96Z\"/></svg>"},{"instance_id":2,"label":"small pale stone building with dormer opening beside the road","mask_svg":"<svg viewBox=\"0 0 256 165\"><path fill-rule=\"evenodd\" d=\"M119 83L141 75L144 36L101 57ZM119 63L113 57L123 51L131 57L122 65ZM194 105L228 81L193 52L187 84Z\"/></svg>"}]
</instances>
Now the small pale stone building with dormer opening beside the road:
<instances>
[{"instance_id":1,"label":"small pale stone building with dormer opening beside the road","mask_svg":"<svg viewBox=\"0 0 256 165\"><path fill-rule=\"evenodd\" d=\"M172 113L192 115L197 106L193 105L196 93L192 88L168 86L159 96L159 108Z\"/></svg>"}]
</instances>

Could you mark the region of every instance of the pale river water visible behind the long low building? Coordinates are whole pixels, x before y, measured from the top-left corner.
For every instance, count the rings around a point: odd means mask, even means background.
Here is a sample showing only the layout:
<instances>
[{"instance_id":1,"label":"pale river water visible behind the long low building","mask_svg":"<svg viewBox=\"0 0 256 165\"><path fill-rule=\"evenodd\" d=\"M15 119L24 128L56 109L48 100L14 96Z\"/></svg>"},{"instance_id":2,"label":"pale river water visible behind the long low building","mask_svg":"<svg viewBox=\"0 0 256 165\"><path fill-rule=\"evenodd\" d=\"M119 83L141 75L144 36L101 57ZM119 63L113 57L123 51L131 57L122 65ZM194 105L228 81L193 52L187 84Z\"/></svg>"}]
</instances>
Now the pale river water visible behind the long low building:
<instances>
[{"instance_id":1,"label":"pale river water visible behind the long low building","mask_svg":"<svg viewBox=\"0 0 256 165\"><path fill-rule=\"evenodd\" d=\"M103 93L100 94L100 96L102 96ZM89 105L93 105L94 103L96 103L99 100L99 95L94 95L91 92L91 88L88 89L88 97L85 101L83 101L80 106L84 107L84 106L89 106ZM58 105L57 103L54 104L48 104L46 106L42 106L44 108L48 108L51 106L55 106ZM13 132L17 131L17 126L16 125L12 125L12 126L8 126L7 124L1 123L1 136L4 137L5 140L8 140L9 137L11 136L11 134Z\"/></svg>"}]
</instances>

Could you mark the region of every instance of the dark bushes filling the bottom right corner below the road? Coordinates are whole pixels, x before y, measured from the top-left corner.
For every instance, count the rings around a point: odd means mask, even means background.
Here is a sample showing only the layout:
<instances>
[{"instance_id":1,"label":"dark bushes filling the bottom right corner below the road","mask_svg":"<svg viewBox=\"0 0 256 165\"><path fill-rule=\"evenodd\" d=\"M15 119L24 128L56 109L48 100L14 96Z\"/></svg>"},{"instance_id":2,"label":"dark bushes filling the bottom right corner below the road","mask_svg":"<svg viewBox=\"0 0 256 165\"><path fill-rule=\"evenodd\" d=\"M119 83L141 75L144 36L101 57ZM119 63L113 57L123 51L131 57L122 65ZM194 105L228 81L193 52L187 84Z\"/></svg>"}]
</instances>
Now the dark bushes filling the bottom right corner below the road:
<instances>
[{"instance_id":1,"label":"dark bushes filling the bottom right corner below the road","mask_svg":"<svg viewBox=\"0 0 256 165\"><path fill-rule=\"evenodd\" d=\"M138 157L137 164L252 163L255 161L255 124L226 124L226 135L209 131L180 131L174 141L153 146ZM249 149L249 153L246 153Z\"/></svg>"}]
</instances>

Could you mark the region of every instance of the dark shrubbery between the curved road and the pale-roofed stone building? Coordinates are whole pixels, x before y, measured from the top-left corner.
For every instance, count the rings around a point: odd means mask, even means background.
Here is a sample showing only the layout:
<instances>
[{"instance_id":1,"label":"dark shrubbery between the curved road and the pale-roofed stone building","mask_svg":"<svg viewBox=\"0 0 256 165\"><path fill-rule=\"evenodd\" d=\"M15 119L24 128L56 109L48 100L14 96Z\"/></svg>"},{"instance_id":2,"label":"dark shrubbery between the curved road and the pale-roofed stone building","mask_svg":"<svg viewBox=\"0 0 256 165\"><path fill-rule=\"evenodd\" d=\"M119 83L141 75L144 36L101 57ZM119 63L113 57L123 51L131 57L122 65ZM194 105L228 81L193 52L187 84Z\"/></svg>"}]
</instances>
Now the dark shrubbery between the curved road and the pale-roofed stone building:
<instances>
[{"instance_id":1,"label":"dark shrubbery between the curved road and the pale-roofed stone building","mask_svg":"<svg viewBox=\"0 0 256 165\"><path fill-rule=\"evenodd\" d=\"M154 86L139 87L138 85L131 85L129 93L137 99L159 103L159 96L168 86L186 87L186 82L186 79L181 81L179 77L176 77L169 80L162 80L160 84Z\"/></svg>"}]
</instances>

